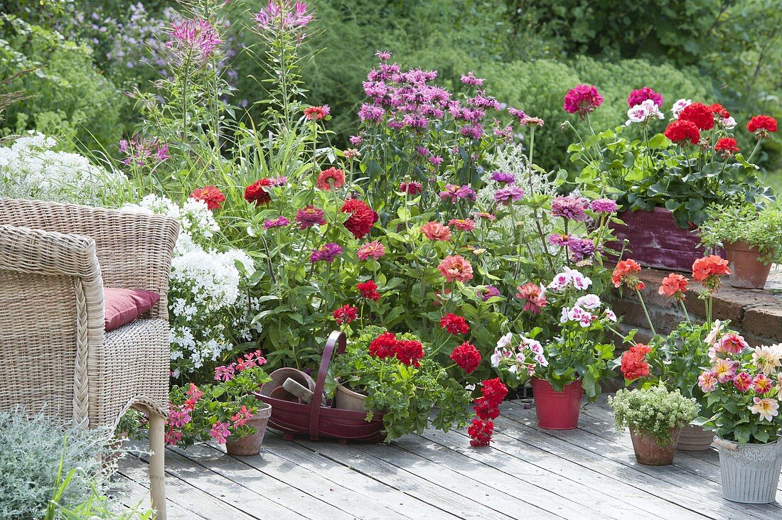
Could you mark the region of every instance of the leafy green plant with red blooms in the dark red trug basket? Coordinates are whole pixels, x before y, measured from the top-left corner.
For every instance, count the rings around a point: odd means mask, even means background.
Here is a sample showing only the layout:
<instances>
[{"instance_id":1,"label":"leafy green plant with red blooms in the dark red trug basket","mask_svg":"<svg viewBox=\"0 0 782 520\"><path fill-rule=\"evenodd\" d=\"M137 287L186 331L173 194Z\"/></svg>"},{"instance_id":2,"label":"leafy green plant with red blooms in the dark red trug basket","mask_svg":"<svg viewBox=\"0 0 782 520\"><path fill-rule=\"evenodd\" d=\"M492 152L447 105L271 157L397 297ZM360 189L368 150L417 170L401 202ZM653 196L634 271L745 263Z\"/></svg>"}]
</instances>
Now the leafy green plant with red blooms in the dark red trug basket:
<instances>
[{"instance_id":1,"label":"leafy green plant with red blooms in the dark red trug basket","mask_svg":"<svg viewBox=\"0 0 782 520\"><path fill-rule=\"evenodd\" d=\"M368 420L382 411L386 441L467 424L470 394L434 353L414 335L364 328L329 365L336 407L367 411Z\"/></svg>"}]
</instances>

